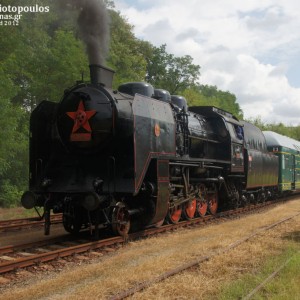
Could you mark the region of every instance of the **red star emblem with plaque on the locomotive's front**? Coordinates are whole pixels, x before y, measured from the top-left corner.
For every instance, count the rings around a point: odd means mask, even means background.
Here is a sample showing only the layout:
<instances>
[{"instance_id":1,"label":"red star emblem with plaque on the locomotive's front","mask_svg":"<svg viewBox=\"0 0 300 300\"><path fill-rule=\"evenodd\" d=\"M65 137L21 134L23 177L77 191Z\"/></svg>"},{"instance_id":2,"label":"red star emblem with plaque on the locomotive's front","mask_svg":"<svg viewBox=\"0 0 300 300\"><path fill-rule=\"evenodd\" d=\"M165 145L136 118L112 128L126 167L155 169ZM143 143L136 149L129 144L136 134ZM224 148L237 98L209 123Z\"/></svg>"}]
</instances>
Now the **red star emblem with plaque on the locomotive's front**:
<instances>
[{"instance_id":1,"label":"red star emblem with plaque on the locomotive's front","mask_svg":"<svg viewBox=\"0 0 300 300\"><path fill-rule=\"evenodd\" d=\"M71 141L89 141L91 139L91 126L89 119L96 113L95 110L86 111L81 100L77 111L67 112L66 114L74 120L74 126L71 134ZM87 133L76 133L78 129L84 128Z\"/></svg>"}]
</instances>

